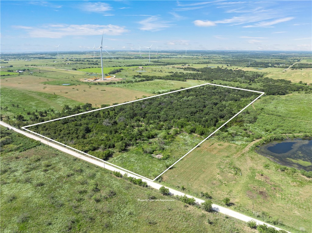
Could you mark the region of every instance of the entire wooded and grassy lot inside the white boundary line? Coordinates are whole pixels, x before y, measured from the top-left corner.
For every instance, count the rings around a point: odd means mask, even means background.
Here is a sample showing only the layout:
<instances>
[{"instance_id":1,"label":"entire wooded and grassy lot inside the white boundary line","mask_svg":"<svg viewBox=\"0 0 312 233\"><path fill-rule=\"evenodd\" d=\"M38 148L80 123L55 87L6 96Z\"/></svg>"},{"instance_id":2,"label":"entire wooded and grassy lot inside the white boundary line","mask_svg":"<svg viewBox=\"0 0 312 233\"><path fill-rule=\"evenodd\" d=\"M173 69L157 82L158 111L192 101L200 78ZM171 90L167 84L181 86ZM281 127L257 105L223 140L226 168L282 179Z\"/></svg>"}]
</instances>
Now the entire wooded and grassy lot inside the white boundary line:
<instances>
[{"instance_id":1,"label":"entire wooded and grassy lot inside the white boundary line","mask_svg":"<svg viewBox=\"0 0 312 233\"><path fill-rule=\"evenodd\" d=\"M188 135L209 135L257 95L205 85L30 129L103 159L114 154L110 162L154 178L202 140ZM67 108L65 114L80 110Z\"/></svg>"}]
</instances>

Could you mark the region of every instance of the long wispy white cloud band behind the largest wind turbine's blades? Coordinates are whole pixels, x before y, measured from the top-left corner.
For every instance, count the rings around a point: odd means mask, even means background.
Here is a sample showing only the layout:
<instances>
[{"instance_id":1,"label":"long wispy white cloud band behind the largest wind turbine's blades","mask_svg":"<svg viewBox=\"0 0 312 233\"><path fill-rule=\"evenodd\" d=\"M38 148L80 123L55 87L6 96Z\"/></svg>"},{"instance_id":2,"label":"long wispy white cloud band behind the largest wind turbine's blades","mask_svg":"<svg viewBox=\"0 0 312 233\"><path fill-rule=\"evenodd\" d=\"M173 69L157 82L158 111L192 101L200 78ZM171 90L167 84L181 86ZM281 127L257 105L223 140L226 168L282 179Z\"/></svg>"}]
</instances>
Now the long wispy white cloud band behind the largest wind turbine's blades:
<instances>
[{"instance_id":1,"label":"long wispy white cloud band behind the largest wind turbine's blades","mask_svg":"<svg viewBox=\"0 0 312 233\"><path fill-rule=\"evenodd\" d=\"M24 29L32 38L62 38L65 36L89 36L89 35L121 35L129 30L118 25L97 25L97 24L54 24L45 26L13 26L17 29Z\"/></svg>"}]
</instances>

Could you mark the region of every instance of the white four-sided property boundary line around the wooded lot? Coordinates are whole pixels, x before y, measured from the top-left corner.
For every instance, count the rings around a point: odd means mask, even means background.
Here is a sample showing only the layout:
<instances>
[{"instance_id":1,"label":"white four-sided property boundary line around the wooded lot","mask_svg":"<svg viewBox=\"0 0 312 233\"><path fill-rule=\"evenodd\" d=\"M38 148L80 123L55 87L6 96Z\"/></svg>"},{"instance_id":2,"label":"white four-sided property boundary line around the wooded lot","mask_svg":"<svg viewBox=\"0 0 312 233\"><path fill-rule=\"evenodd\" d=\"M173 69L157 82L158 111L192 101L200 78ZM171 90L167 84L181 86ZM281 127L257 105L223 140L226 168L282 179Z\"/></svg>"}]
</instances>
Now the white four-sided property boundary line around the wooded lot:
<instances>
[{"instance_id":1,"label":"white four-sided property boundary line around the wooded lot","mask_svg":"<svg viewBox=\"0 0 312 233\"><path fill-rule=\"evenodd\" d=\"M144 177L142 175L139 175L139 174L136 174L132 171L129 171L127 169L124 169L122 167L119 167L115 164L112 164L108 161L105 161L103 159L99 159L93 155L89 155L83 151L80 151L80 150L77 150L71 146L68 146L68 145L65 145L61 142L58 142L56 140L53 140L51 138L48 138L46 136L43 136L41 134L38 134L36 132L33 132L31 130L28 130L26 129L27 127L31 127L31 126L36 126L36 125L40 125L40 124L43 124L43 123L47 123L47 122L51 122L51 121L57 121L57 120L61 120L61 119L65 119L65 118L68 118L68 117L74 117L74 116L78 116L78 115L82 115L82 114L85 114L85 113L89 113L89 112L95 112L95 111L100 111L100 110L103 110L103 109L106 109L106 108L111 108L111 107L116 107L116 106L120 106L120 105L124 105L124 104L128 104L128 103L132 103L132 102L137 102L137 101L141 101L141 100L145 100L145 99L149 99L149 98L154 98L154 97L158 97L158 96L162 96L162 95L167 95L167 94L170 94L170 93L175 93L175 92L180 92L180 91L184 91L184 90L187 90L187 89L191 89L191 88L196 88L196 87L201 87L201 86L205 86L205 85L212 85L212 86L218 86L218 87L225 87L225 88L232 88L232 89L237 89L237 90L243 90L243 91L250 91L250 92L256 92L256 93L261 93L258 97L256 97L253 101L251 101L248 105L246 105L246 107L242 108L239 112L237 112L233 117L231 117L229 120L227 120L224 124L222 124L222 126L220 126L219 128L217 128L217 130L213 131L209 136L207 136L204 140L202 140L200 143L198 143L195 147L193 147L190 151L188 151L185 155L183 155L180 159L178 159L176 162L174 162L170 167L168 167L166 170L164 170L161 174L159 174L156 178L154 178L153 180L152 179L149 179L147 177ZM132 101L129 101L129 102L124 102L124 103L120 103L120 104L116 104L116 105L113 105L113 106L108 106L108 107L103 107L103 108L98 108L98 109L95 109L95 110L90 110L90 111L87 111L87 112L80 112L80 113L77 113L77 114L74 114L74 115L70 115L70 116L66 116L66 117L60 117L60 118L57 118L57 119L54 119L54 120L49 120L49 121L44 121L44 122L39 122L39 123L36 123L36 124L32 124L32 125L28 125L28 126L23 126L21 127L23 130L26 130L26 131L29 131L33 134L36 134L38 136L41 136L43 138L46 138L48 140L51 140L53 142L56 142L57 144L60 144L60 145L63 145L65 147L68 147L72 150L75 150L77 152L80 152L84 155L87 155L87 156L90 156L92 158L95 158L97 160L100 160L102 161L104 164L110 164L116 168L119 168L119 169L122 169L126 172L129 172L131 174L134 174L136 176L139 176L141 178L144 178L144 179L147 179L149 181L155 181L158 177L160 177L162 174L164 174L166 171L168 171L170 168L173 167L173 165L175 165L176 163L178 163L181 159L183 159L186 155L188 155L189 153L191 153L195 148L197 148L199 145L201 145L205 140L207 140L210 136L212 136L214 133L216 133L218 130L220 130L223 126L225 126L229 121L231 121L234 117L236 117L238 114L240 114L242 111L244 111L247 107L249 107L253 102L255 102L257 99L259 99L262 95L264 94L264 92L260 92L260 91L254 91L254 90L249 90L249 89L243 89L243 88L235 88L235 87L229 87L229 86L224 86L224 85L218 85L218 84L213 84L213 83L204 83L204 84L201 84L201 85L197 85L197 86L194 86L194 87L188 87L188 88L183 88L183 89L179 89L179 90L175 90L175 91L171 91L171 92L167 92L167 93L162 93L162 94L158 94L158 95L154 95L154 96L149 96L149 97L145 97L145 98L141 98L141 99L137 99L137 100L132 100Z\"/></svg>"}]
</instances>

